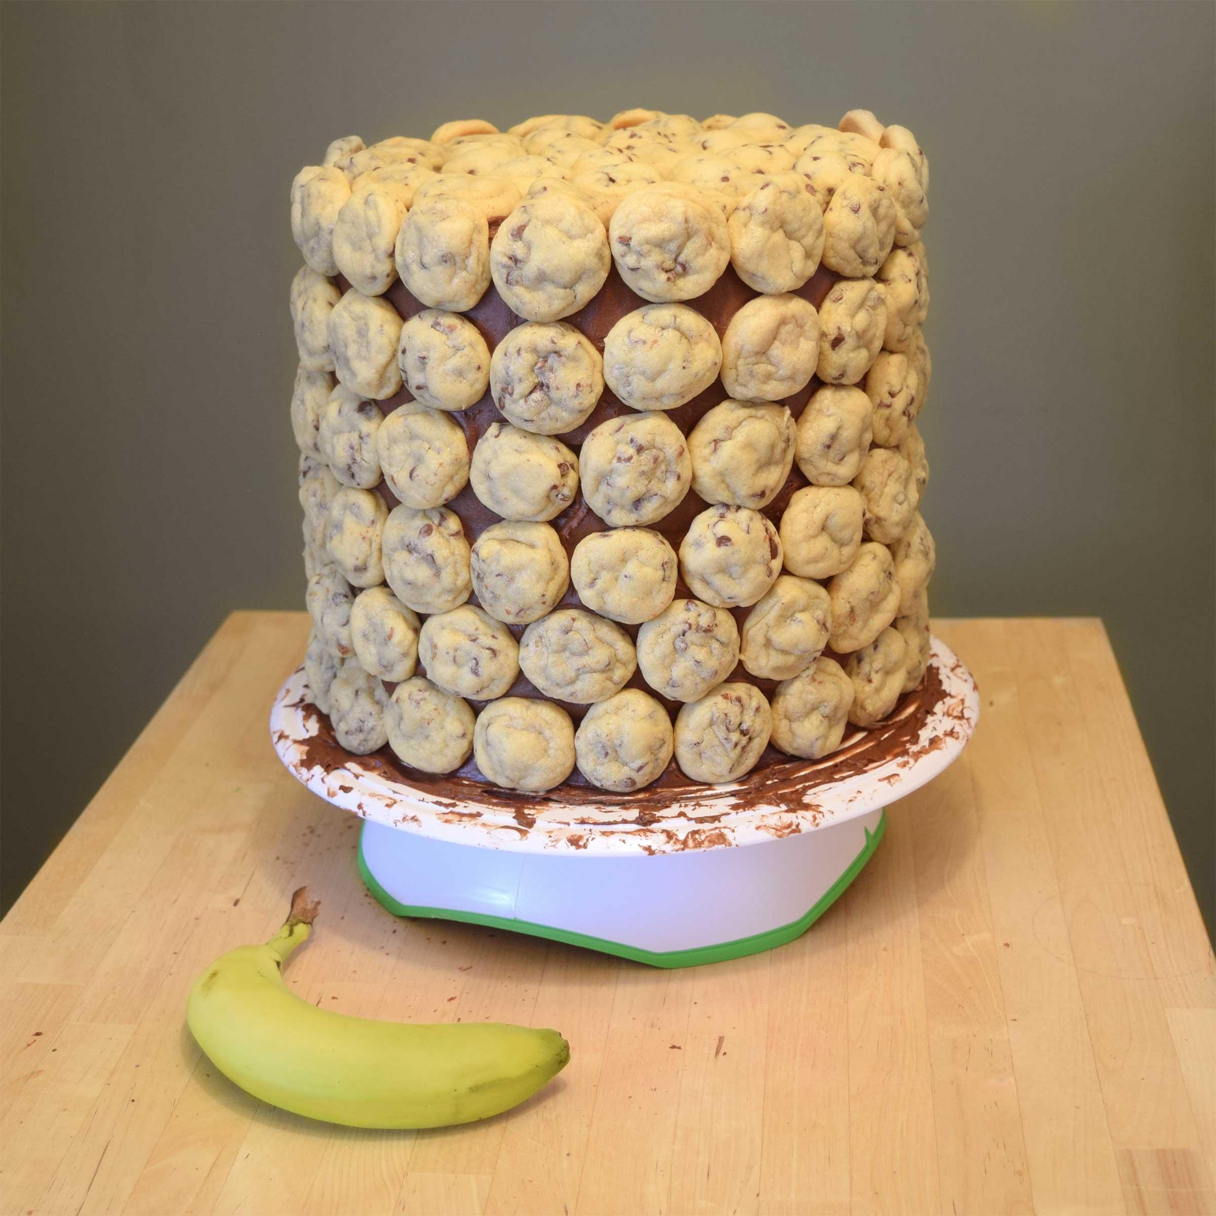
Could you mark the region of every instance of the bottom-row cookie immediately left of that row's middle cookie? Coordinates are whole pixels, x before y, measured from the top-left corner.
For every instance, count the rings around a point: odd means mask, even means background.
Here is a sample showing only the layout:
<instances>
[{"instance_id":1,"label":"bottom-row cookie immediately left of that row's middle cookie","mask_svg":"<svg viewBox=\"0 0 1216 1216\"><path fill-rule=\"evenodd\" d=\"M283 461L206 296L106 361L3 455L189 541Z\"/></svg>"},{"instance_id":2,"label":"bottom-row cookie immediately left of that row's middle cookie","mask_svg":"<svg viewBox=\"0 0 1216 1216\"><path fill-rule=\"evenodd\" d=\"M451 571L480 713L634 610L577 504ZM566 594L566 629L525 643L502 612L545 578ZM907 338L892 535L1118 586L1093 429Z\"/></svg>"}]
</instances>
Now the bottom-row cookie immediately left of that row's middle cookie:
<instances>
[{"instance_id":1,"label":"bottom-row cookie immediately left of that row's middle cookie","mask_svg":"<svg viewBox=\"0 0 1216 1216\"><path fill-rule=\"evenodd\" d=\"M477 719L473 759L495 786L539 794L574 771L574 724L561 705L503 697Z\"/></svg>"}]
</instances>

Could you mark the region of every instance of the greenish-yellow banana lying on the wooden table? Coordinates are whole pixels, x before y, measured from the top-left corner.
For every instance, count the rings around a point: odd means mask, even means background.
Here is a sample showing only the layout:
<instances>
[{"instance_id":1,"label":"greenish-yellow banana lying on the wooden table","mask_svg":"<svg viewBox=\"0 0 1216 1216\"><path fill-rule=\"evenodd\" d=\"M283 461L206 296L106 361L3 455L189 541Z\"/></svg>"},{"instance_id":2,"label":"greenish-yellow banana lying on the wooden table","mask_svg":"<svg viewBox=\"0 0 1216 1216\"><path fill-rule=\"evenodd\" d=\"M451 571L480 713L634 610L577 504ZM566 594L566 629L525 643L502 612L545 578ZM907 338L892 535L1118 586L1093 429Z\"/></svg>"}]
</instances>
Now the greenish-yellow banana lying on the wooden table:
<instances>
[{"instance_id":1,"label":"greenish-yellow banana lying on the wooden table","mask_svg":"<svg viewBox=\"0 0 1216 1216\"><path fill-rule=\"evenodd\" d=\"M373 1021L302 1001L282 967L317 908L300 888L270 941L230 950L191 987L190 1030L242 1090L350 1127L446 1127L508 1110L565 1068L556 1030Z\"/></svg>"}]
</instances>

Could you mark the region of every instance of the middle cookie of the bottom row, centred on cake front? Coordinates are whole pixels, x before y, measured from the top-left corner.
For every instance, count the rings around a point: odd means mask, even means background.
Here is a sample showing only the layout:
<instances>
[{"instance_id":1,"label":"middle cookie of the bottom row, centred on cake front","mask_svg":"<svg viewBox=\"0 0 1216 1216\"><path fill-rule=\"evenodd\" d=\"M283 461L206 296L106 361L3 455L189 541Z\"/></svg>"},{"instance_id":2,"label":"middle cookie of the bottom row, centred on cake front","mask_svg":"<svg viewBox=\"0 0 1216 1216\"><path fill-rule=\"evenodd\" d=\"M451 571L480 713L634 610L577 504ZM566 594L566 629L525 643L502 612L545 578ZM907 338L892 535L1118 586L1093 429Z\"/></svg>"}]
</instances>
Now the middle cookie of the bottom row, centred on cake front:
<instances>
[{"instance_id":1,"label":"middle cookie of the bottom row, centred on cake front","mask_svg":"<svg viewBox=\"0 0 1216 1216\"><path fill-rule=\"evenodd\" d=\"M675 737L668 711L641 688L592 705L574 732L579 772L592 786L624 794L663 776Z\"/></svg>"}]
</instances>

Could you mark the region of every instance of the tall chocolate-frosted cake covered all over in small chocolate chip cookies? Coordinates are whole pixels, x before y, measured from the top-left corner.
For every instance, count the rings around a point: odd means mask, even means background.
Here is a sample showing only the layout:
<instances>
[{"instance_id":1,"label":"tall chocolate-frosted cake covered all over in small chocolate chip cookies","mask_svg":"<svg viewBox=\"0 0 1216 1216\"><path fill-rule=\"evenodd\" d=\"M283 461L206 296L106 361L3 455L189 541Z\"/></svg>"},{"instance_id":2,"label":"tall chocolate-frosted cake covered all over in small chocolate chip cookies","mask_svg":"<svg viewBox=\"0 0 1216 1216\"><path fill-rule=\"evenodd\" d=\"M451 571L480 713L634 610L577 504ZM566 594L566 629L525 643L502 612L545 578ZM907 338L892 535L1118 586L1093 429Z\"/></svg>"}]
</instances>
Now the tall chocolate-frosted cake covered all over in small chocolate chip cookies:
<instances>
[{"instance_id":1,"label":"tall chocolate-frosted cake covered all over in small chocolate chip cookies","mask_svg":"<svg viewBox=\"0 0 1216 1216\"><path fill-rule=\"evenodd\" d=\"M928 184L868 111L454 122L302 169L305 668L338 744L624 793L880 730L929 652Z\"/></svg>"}]
</instances>

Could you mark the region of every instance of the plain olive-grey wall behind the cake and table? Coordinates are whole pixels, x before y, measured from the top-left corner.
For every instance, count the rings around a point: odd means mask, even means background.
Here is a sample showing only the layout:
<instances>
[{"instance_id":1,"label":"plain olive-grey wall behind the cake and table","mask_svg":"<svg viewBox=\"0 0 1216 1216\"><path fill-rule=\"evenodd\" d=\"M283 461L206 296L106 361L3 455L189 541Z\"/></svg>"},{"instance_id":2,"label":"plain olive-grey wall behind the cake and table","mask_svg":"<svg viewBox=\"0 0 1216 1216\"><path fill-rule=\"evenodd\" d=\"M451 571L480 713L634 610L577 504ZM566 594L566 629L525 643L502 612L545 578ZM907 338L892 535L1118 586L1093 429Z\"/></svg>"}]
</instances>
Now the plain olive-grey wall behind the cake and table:
<instances>
[{"instance_id":1,"label":"plain olive-grey wall behind the cake and table","mask_svg":"<svg viewBox=\"0 0 1216 1216\"><path fill-rule=\"evenodd\" d=\"M1216 9L0 7L6 902L225 613L302 606L299 165L866 106L933 162L934 609L1105 619L1212 923Z\"/></svg>"}]
</instances>

